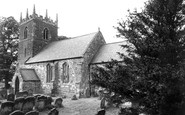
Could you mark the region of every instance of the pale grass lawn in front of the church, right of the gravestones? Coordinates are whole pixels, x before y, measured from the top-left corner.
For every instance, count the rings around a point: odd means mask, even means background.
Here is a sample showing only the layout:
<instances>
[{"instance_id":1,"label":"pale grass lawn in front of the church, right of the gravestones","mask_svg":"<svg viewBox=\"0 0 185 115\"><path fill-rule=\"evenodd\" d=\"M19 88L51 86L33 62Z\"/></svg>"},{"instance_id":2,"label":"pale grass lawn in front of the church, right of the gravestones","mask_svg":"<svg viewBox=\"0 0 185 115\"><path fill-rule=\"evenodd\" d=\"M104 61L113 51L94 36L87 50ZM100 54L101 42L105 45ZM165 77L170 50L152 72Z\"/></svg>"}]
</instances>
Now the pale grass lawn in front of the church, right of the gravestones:
<instances>
[{"instance_id":1,"label":"pale grass lawn in front of the church, right of the gravestones","mask_svg":"<svg viewBox=\"0 0 185 115\"><path fill-rule=\"evenodd\" d=\"M95 115L100 109L100 100L98 98L81 98L63 100L64 108L60 108L59 115ZM41 112L40 115L47 115L49 111ZM109 108L106 115L117 115L118 108Z\"/></svg>"}]
</instances>

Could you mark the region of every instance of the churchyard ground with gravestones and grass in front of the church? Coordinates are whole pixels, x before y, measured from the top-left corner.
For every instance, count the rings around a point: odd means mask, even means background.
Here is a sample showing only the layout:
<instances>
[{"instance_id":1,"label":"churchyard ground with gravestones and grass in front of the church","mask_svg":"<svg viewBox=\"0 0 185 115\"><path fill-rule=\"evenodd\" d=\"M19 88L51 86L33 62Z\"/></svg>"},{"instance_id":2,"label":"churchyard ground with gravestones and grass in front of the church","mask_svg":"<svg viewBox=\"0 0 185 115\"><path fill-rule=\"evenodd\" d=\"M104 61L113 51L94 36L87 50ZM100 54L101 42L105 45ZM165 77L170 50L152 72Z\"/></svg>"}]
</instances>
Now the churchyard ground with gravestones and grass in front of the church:
<instances>
[{"instance_id":1,"label":"churchyard ground with gravestones and grass in front of the church","mask_svg":"<svg viewBox=\"0 0 185 115\"><path fill-rule=\"evenodd\" d=\"M35 112L34 115L51 115L51 112L58 112L58 115L96 115L101 110L99 97L61 98L28 92L9 94L6 99L1 98L0 103L0 115L15 115L14 112L20 112L19 115L30 115L30 112ZM116 107L105 110L105 115L118 115Z\"/></svg>"}]
</instances>

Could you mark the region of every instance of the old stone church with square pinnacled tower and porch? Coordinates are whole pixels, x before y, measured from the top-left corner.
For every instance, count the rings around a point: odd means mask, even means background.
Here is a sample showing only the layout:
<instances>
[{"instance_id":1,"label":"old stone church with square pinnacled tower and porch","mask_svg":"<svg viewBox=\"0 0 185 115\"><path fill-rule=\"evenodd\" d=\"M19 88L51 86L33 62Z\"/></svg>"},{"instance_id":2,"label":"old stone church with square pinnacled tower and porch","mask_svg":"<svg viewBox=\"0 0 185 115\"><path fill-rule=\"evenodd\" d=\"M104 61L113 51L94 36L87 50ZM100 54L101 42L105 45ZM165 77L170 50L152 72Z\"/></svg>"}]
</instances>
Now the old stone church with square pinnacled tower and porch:
<instances>
[{"instance_id":1,"label":"old stone church with square pinnacled tower and porch","mask_svg":"<svg viewBox=\"0 0 185 115\"><path fill-rule=\"evenodd\" d=\"M58 36L58 16L53 21L40 16L20 16L18 65L12 79L15 93L32 90L35 94L87 97L90 67L119 60L121 42L107 44L97 32L64 38Z\"/></svg>"}]
</instances>

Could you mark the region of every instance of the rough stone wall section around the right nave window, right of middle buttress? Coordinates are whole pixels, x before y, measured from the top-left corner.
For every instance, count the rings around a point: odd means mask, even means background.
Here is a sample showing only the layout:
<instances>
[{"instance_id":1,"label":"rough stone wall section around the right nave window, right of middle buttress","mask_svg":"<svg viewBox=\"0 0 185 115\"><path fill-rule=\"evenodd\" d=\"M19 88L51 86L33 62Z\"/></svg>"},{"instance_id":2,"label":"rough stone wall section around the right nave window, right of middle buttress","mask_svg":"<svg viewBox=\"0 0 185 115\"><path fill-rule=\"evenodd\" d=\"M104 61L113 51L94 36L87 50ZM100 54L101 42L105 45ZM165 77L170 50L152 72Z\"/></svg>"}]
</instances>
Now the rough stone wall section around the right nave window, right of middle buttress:
<instances>
[{"instance_id":1,"label":"rough stone wall section around the right nave window, right of middle buttress","mask_svg":"<svg viewBox=\"0 0 185 115\"><path fill-rule=\"evenodd\" d=\"M59 94L67 97L72 97L73 95L77 95L79 97L79 91L80 91L80 82L82 78L81 74L81 66L82 66L82 58L79 59L69 59L69 60L62 60L59 61L59 78L58 80L58 89ZM62 77L63 77L63 68L62 65L64 63L67 63L69 65L69 82L63 83Z\"/></svg>"}]
</instances>

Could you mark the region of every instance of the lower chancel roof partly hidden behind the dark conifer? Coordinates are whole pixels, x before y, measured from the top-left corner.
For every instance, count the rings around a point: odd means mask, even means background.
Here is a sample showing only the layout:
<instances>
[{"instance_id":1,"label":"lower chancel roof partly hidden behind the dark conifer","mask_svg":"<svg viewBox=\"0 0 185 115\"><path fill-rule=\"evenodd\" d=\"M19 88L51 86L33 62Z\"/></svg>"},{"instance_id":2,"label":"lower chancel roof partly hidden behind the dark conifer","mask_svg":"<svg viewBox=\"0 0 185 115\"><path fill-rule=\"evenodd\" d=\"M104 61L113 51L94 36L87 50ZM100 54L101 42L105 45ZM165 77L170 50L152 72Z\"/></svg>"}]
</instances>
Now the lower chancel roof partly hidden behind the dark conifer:
<instances>
[{"instance_id":1,"label":"lower chancel roof partly hidden behind the dark conifer","mask_svg":"<svg viewBox=\"0 0 185 115\"><path fill-rule=\"evenodd\" d=\"M92 64L110 62L112 59L122 61L118 52L126 53L121 47L123 42L115 42L103 45L92 60Z\"/></svg>"}]
</instances>

